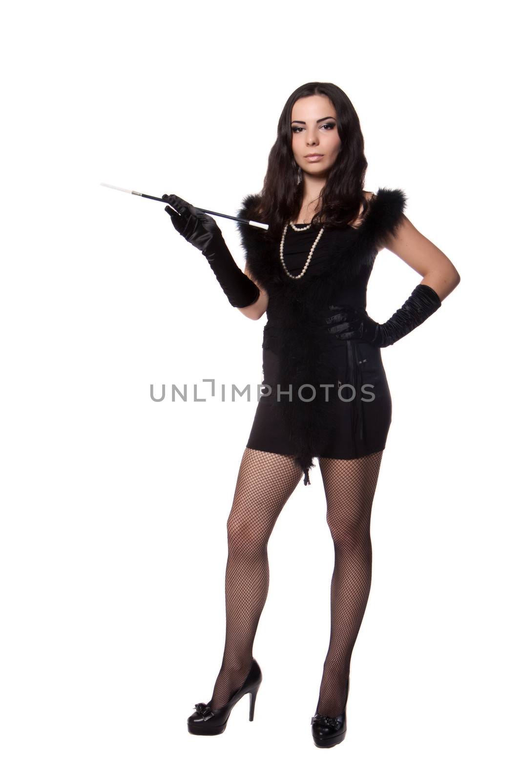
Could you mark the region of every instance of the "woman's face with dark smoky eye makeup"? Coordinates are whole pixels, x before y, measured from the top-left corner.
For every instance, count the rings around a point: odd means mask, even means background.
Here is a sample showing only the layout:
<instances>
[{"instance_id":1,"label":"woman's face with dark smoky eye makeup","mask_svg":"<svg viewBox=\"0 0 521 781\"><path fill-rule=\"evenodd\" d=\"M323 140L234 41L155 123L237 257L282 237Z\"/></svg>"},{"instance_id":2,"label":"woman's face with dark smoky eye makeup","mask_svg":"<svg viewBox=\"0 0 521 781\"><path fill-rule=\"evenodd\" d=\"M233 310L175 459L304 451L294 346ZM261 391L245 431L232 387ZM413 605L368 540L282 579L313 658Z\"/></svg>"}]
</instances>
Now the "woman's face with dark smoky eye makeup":
<instances>
[{"instance_id":1,"label":"woman's face with dark smoky eye makeup","mask_svg":"<svg viewBox=\"0 0 521 781\"><path fill-rule=\"evenodd\" d=\"M302 172L324 177L340 152L337 112L325 95L299 98L291 109L291 137L295 162ZM316 160L308 155L321 155Z\"/></svg>"}]
</instances>

